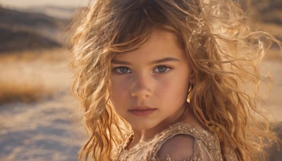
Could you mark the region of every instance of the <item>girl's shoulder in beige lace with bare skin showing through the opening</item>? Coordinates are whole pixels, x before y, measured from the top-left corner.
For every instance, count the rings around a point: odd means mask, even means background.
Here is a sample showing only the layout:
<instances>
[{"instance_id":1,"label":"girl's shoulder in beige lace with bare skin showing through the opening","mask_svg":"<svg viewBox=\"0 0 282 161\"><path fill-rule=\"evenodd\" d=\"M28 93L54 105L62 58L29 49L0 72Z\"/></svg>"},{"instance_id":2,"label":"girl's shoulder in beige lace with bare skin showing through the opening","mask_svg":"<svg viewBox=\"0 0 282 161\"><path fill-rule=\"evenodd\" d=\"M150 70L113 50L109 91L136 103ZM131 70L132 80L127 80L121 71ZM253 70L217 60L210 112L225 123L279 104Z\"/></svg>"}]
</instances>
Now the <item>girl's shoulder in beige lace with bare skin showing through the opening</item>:
<instances>
[{"instance_id":1,"label":"girl's shoulder in beige lace with bare skin showing through the opening","mask_svg":"<svg viewBox=\"0 0 282 161\"><path fill-rule=\"evenodd\" d=\"M221 159L217 137L200 127L178 123L165 131L161 138L155 153L159 160Z\"/></svg>"}]
</instances>

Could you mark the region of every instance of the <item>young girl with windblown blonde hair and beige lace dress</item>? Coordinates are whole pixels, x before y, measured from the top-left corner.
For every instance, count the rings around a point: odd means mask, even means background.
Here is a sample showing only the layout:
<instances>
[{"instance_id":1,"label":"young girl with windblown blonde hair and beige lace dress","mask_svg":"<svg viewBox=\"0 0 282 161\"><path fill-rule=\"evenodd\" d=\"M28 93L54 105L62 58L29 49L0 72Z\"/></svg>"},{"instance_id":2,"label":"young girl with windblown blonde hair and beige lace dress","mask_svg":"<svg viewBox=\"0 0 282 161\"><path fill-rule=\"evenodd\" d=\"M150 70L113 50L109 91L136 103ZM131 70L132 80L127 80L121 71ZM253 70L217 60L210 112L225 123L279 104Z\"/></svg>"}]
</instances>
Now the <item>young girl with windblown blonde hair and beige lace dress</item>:
<instances>
[{"instance_id":1,"label":"young girl with windblown blonde hair and beige lace dress","mask_svg":"<svg viewBox=\"0 0 282 161\"><path fill-rule=\"evenodd\" d=\"M276 40L237 2L96 0L75 22L80 160L266 160L258 65Z\"/></svg>"}]
</instances>

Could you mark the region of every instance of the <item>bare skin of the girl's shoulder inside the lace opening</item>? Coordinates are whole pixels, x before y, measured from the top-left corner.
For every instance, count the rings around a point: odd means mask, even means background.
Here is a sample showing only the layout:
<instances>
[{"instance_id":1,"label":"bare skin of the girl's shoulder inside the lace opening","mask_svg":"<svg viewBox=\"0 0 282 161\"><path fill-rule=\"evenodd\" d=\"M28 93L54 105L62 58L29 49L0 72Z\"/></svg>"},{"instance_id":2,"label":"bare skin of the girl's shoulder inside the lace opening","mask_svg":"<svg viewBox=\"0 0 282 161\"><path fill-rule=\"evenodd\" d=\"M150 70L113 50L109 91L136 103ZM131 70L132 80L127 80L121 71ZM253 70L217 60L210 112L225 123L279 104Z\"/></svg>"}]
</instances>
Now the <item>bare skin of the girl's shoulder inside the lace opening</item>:
<instances>
[{"instance_id":1,"label":"bare skin of the girl's shoulder inside the lace opening","mask_svg":"<svg viewBox=\"0 0 282 161\"><path fill-rule=\"evenodd\" d=\"M173 160L188 160L194 153L195 138L187 134L178 134L168 138L159 151L157 157L159 160L166 160L169 155Z\"/></svg>"}]
</instances>

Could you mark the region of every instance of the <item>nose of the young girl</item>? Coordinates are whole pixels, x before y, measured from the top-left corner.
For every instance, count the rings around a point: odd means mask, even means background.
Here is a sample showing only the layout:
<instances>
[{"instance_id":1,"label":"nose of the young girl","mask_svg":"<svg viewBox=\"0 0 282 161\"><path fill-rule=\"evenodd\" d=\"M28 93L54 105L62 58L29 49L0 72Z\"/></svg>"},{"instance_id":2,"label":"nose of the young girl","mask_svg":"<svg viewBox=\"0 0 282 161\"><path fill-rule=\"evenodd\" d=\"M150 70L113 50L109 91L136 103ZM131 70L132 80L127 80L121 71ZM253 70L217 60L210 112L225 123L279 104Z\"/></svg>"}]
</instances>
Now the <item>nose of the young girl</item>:
<instances>
[{"instance_id":1,"label":"nose of the young girl","mask_svg":"<svg viewBox=\"0 0 282 161\"><path fill-rule=\"evenodd\" d=\"M152 95L152 81L149 76L136 76L133 78L131 95L140 99L144 99Z\"/></svg>"}]
</instances>

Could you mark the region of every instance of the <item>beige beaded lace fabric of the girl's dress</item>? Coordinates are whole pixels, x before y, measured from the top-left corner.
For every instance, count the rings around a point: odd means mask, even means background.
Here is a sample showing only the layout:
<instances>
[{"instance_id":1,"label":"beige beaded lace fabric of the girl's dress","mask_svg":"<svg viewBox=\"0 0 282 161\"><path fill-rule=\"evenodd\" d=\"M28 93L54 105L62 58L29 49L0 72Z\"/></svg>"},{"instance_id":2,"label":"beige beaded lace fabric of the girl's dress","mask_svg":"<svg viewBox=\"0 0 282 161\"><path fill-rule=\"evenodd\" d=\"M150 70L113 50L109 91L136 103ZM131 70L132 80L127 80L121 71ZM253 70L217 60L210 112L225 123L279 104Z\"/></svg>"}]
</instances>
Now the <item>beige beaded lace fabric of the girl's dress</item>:
<instances>
[{"instance_id":1,"label":"beige beaded lace fabric of the girl's dress","mask_svg":"<svg viewBox=\"0 0 282 161\"><path fill-rule=\"evenodd\" d=\"M187 134L195 138L194 153L191 158L188 158L188 160L222 160L219 139L215 134L202 128L190 126L189 124L184 123L177 123L169 126L168 129L162 131L161 133L157 133L151 141L139 143L128 150L126 147L130 141L133 140L133 134L130 135L125 143L119 148L116 160L157 161L159 160L157 152L159 148L161 148L161 145L163 145L168 138L178 134ZM166 160L173 160L173 158L170 158L168 155Z\"/></svg>"}]
</instances>

